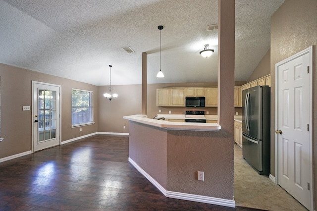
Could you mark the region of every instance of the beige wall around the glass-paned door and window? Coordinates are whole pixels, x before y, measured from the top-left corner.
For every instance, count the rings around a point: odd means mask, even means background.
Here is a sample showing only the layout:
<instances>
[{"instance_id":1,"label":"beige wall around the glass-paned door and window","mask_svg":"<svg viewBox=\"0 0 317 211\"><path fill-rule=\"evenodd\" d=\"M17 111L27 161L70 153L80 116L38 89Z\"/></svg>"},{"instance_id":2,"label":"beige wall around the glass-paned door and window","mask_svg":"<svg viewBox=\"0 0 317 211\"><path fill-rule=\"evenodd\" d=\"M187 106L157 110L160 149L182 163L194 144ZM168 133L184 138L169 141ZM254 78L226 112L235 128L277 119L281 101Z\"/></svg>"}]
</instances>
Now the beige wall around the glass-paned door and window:
<instances>
[{"instance_id":1,"label":"beige wall around the glass-paned door and window","mask_svg":"<svg viewBox=\"0 0 317 211\"><path fill-rule=\"evenodd\" d=\"M95 109L98 110L98 87L65 78L55 77L10 65L0 64L1 76L1 138L0 158L32 150L31 110L22 111L22 106L32 105L32 81L61 86L61 141L97 132L96 124L71 128L71 88L93 91Z\"/></svg>"}]
</instances>

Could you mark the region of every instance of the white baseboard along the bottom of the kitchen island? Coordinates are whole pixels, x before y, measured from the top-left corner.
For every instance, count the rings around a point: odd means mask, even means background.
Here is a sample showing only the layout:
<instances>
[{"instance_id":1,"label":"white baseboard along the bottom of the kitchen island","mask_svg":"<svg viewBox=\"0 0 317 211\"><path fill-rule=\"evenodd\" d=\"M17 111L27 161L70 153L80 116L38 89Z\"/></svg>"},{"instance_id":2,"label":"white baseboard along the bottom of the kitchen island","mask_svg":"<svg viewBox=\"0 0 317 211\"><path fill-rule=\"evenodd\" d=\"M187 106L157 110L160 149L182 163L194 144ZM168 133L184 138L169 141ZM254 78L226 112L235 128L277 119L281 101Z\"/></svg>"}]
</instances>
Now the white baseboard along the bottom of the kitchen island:
<instances>
[{"instance_id":1,"label":"white baseboard along the bottom of the kitchen island","mask_svg":"<svg viewBox=\"0 0 317 211\"><path fill-rule=\"evenodd\" d=\"M136 162L134 162L133 159L129 158L129 162L141 174L143 174L143 176L145 176L155 187L157 187L159 189L159 191L165 197L173 198L173 199L182 199L182 200L193 201L193 202L202 202L202 203L211 204L211 205L226 206L226 207L230 207L230 208L235 208L235 206L236 206L234 200L220 199L220 198L214 198L214 197L209 197L209 196L180 193L180 192L173 192L173 191L166 191L165 188L163 188L155 179L153 179L153 177L151 177L147 172L145 172Z\"/></svg>"}]
</instances>

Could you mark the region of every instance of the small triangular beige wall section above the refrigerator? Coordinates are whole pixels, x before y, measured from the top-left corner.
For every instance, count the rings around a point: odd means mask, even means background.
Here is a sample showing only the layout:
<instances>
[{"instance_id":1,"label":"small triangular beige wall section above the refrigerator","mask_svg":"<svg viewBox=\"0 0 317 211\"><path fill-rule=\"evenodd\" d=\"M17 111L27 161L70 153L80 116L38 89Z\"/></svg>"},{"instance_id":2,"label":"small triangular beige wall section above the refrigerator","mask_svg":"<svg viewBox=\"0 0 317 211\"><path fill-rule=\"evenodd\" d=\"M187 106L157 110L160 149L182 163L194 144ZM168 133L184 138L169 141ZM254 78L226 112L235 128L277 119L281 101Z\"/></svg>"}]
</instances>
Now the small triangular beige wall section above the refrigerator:
<instances>
[{"instance_id":1,"label":"small triangular beige wall section above the refrigerator","mask_svg":"<svg viewBox=\"0 0 317 211\"><path fill-rule=\"evenodd\" d=\"M261 59L260 63L258 66L254 69L252 72L251 76L247 80L247 83L257 80L265 75L271 74L271 69L270 69L270 61L271 61L271 51L270 49L265 53L263 58Z\"/></svg>"}]
</instances>

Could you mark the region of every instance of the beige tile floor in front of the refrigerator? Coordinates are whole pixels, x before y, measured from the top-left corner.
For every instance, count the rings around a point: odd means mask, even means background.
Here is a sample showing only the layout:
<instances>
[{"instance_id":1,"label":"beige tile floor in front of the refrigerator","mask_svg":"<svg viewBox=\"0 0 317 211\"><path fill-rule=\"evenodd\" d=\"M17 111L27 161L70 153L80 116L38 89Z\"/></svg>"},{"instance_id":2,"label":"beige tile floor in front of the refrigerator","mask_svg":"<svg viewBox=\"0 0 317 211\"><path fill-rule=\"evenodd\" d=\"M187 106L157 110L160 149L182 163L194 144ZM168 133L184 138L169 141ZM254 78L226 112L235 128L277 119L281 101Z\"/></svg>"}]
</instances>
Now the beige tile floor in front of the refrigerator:
<instances>
[{"instance_id":1,"label":"beige tile floor in front of the refrigerator","mask_svg":"<svg viewBox=\"0 0 317 211\"><path fill-rule=\"evenodd\" d=\"M268 176L258 174L234 145L234 200L236 206L268 211L307 211Z\"/></svg>"}]
</instances>

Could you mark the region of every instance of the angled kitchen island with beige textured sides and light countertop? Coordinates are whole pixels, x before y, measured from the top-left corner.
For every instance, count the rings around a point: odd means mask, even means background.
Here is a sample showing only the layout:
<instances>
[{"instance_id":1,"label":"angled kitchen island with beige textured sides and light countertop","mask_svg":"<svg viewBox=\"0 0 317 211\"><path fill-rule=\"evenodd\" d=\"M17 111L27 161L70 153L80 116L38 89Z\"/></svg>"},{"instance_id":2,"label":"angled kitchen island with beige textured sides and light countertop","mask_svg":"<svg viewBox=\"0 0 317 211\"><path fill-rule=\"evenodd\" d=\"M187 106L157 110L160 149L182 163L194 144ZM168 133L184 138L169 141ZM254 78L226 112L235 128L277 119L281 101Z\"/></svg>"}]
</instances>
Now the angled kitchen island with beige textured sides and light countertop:
<instances>
[{"instance_id":1,"label":"angled kitchen island with beige textured sides and light countertop","mask_svg":"<svg viewBox=\"0 0 317 211\"><path fill-rule=\"evenodd\" d=\"M129 120L129 162L166 197L235 207L233 142L217 123ZM204 171L204 181L197 172Z\"/></svg>"}]
</instances>

